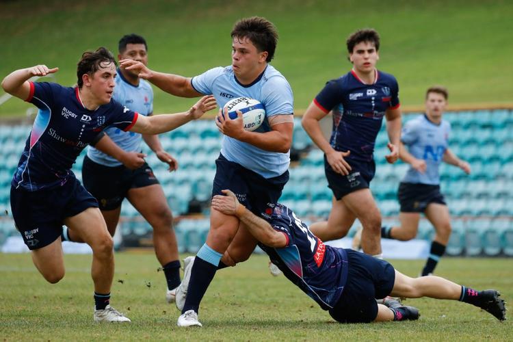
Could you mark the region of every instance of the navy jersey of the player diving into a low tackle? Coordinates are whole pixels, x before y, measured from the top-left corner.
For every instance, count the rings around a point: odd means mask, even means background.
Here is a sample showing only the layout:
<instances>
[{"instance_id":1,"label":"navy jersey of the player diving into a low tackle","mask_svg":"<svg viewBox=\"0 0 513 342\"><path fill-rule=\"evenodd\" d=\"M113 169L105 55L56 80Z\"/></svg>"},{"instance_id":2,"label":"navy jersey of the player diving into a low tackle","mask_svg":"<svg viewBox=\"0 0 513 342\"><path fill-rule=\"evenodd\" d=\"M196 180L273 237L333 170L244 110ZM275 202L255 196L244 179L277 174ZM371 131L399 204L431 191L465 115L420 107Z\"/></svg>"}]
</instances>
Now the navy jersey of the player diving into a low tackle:
<instances>
[{"instance_id":1,"label":"navy jersey of the player diving into a low tackle","mask_svg":"<svg viewBox=\"0 0 513 342\"><path fill-rule=\"evenodd\" d=\"M347 254L332 248L313 235L291 209L280 205L267 208L265 219L285 234L287 246L271 248L259 244L274 265L321 308L329 310L337 302L347 280Z\"/></svg>"}]
</instances>

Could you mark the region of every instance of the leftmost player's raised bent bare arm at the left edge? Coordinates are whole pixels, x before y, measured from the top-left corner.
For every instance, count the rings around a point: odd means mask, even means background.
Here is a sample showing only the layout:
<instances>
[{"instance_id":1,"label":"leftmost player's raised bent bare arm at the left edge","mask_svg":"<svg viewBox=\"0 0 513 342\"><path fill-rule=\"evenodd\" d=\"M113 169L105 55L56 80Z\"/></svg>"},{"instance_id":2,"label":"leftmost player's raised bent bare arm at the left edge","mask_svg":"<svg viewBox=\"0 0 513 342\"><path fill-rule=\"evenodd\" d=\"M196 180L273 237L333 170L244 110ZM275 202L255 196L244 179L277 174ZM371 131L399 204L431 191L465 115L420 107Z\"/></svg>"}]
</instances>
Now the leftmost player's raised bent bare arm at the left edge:
<instances>
[{"instance_id":1,"label":"leftmost player's raised bent bare arm at the left edge","mask_svg":"<svg viewBox=\"0 0 513 342\"><path fill-rule=\"evenodd\" d=\"M30 68L19 69L5 76L2 81L2 88L5 92L27 100L30 94L30 83L28 80L34 76L46 76L57 73L59 68L48 68L45 65L31 66Z\"/></svg>"}]
</instances>

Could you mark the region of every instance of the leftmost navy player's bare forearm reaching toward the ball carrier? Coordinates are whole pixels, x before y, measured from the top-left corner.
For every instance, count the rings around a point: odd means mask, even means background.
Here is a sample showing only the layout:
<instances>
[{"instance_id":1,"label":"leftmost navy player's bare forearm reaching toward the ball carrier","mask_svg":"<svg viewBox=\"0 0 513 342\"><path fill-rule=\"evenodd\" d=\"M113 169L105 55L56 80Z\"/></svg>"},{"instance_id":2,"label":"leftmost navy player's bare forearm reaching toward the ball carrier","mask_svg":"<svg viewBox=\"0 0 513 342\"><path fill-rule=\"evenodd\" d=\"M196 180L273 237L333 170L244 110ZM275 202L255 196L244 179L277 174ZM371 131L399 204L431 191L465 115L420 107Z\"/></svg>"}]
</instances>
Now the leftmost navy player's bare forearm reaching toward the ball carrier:
<instances>
[{"instance_id":1,"label":"leftmost navy player's bare forearm reaching toward the ball carrier","mask_svg":"<svg viewBox=\"0 0 513 342\"><path fill-rule=\"evenodd\" d=\"M135 121L130 131L144 134L159 134L172 131L191 120L200 118L205 112L214 109L216 105L215 98L209 95L200 98L200 101L196 102L188 111L149 117L140 115L137 116L137 121Z\"/></svg>"}]
</instances>

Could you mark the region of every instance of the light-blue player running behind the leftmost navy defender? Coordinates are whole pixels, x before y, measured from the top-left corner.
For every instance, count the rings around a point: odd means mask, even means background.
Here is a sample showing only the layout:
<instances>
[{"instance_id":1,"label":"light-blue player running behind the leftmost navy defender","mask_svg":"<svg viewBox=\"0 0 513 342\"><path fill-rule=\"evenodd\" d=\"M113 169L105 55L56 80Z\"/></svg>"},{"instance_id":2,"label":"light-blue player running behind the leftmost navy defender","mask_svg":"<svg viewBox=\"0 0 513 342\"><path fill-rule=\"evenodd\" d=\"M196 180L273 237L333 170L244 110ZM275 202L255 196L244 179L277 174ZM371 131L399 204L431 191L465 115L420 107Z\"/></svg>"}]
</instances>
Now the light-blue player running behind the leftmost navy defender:
<instances>
[{"instance_id":1,"label":"light-blue player running behind the leftmost navy defender","mask_svg":"<svg viewBox=\"0 0 513 342\"><path fill-rule=\"evenodd\" d=\"M148 64L146 40L136 34L123 36L118 43L118 52L118 60L132 58ZM152 115L153 90L150 83L129 70L118 68L116 72L112 98L140 115ZM105 129L103 135L106 136L99 137L94 147L88 148L88 155L83 160L83 185L98 200L111 236L116 233L124 198L128 198L152 226L155 254L166 276L166 300L174 302L176 287L180 285L180 261L172 229L172 213L159 181L144 161L141 140L161 161L168 163L170 171L176 170L178 163L162 149L158 135L124 132L116 127ZM63 237L77 241L73 233L66 232L66 228Z\"/></svg>"}]
</instances>

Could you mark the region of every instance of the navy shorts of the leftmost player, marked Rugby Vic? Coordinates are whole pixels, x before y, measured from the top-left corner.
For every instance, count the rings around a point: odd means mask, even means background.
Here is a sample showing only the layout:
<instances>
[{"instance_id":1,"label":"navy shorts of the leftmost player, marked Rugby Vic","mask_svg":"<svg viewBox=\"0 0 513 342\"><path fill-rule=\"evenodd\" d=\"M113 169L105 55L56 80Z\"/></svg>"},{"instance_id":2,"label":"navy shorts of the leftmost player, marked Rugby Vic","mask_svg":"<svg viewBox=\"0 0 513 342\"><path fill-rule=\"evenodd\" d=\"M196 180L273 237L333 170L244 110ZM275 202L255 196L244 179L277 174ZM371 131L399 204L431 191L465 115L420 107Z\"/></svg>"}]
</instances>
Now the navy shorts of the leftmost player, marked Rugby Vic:
<instances>
[{"instance_id":1,"label":"navy shorts of the leftmost player, marked Rugby Vic","mask_svg":"<svg viewBox=\"0 0 513 342\"><path fill-rule=\"evenodd\" d=\"M30 250L48 246L62 233L65 218L98 207L98 202L75 178L64 185L29 192L11 186L11 209L16 229Z\"/></svg>"}]
</instances>

